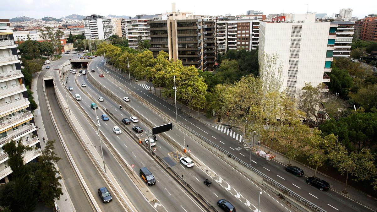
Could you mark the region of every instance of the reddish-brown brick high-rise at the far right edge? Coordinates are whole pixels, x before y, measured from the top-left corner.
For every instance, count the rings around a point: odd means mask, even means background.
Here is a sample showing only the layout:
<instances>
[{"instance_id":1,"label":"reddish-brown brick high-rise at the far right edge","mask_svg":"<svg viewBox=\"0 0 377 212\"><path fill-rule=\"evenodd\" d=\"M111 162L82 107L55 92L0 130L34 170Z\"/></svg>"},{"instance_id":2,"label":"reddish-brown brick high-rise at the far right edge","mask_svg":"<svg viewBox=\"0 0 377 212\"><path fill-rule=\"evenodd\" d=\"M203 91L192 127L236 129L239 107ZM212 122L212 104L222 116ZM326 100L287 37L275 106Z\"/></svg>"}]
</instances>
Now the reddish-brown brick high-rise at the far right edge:
<instances>
[{"instance_id":1,"label":"reddish-brown brick high-rise at the far right edge","mask_svg":"<svg viewBox=\"0 0 377 212\"><path fill-rule=\"evenodd\" d=\"M357 37L366 41L377 41L377 14L371 14L355 22Z\"/></svg>"}]
</instances>

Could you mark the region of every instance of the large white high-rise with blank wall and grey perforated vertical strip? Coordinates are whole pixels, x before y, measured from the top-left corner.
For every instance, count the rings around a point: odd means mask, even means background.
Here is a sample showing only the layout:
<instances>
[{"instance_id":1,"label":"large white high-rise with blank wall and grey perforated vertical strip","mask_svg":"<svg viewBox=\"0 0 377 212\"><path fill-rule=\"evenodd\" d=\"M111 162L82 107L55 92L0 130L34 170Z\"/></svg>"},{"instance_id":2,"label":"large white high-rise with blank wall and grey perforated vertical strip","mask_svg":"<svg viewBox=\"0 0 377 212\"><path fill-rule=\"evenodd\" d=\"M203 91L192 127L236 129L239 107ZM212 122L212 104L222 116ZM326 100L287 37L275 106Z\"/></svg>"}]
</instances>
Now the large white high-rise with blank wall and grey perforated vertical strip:
<instances>
[{"instance_id":1,"label":"large white high-rise with blank wall and grey perforated vertical strip","mask_svg":"<svg viewBox=\"0 0 377 212\"><path fill-rule=\"evenodd\" d=\"M277 55L283 67L282 88L295 99L306 82L317 86L330 81L325 72L331 71L335 30L330 22L261 22L259 64L264 63L264 54ZM322 92L328 92L325 84Z\"/></svg>"}]
</instances>

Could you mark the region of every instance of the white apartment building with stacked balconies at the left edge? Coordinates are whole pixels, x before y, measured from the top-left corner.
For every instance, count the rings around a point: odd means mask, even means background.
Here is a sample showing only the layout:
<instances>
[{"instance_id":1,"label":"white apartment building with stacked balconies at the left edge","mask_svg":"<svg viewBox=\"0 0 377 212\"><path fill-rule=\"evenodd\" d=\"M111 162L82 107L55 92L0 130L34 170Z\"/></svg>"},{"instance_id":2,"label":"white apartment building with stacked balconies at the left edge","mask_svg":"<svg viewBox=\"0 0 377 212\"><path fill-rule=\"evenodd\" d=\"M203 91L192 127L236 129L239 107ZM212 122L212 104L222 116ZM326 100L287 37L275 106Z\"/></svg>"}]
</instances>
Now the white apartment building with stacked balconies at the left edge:
<instances>
[{"instance_id":1,"label":"white apartment building with stacked balconies at the left edge","mask_svg":"<svg viewBox=\"0 0 377 212\"><path fill-rule=\"evenodd\" d=\"M25 152L25 163L41 154L12 31L9 20L0 19L0 183L8 183L12 173L3 148L6 143L14 140L33 148Z\"/></svg>"}]
</instances>

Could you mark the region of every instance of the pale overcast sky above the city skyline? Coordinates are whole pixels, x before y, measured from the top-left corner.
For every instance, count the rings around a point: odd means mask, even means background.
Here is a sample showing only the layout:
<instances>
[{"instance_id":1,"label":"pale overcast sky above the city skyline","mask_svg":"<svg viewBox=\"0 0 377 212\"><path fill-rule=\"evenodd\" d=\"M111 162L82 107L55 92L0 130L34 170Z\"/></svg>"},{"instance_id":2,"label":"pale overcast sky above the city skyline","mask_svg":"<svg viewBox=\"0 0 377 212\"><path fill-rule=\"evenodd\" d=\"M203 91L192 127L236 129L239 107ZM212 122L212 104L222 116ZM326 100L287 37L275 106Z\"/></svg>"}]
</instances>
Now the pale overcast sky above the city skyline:
<instances>
[{"instance_id":1,"label":"pale overcast sky above the city skyline","mask_svg":"<svg viewBox=\"0 0 377 212\"><path fill-rule=\"evenodd\" d=\"M128 15L161 14L171 12L172 0L1 0L0 19L29 16L42 18L51 16L61 18L71 14L78 15ZM157 3L158 2L158 3ZM368 2L368 3L367 3ZM139 3L139 5L138 5ZM233 4L233 5L232 5ZM247 10L261 11L263 14L282 12L339 13L342 8L353 9L352 16L363 18L377 13L377 0L358 2L355 0L185 0L176 1L177 11L190 11L195 15L241 15ZM130 5L130 6L129 6Z\"/></svg>"}]
</instances>

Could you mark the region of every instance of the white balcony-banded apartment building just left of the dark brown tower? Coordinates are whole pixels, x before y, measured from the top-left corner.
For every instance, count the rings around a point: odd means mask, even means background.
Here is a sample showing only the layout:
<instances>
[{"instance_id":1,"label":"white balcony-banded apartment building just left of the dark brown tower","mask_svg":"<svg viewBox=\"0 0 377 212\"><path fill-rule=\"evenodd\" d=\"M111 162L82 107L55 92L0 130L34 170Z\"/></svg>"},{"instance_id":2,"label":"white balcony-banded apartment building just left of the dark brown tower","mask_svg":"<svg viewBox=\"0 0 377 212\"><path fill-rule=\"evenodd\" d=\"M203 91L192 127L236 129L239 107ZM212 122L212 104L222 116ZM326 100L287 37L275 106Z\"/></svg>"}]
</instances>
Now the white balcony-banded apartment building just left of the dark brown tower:
<instances>
[{"instance_id":1,"label":"white balcony-banded apartment building just left of the dark brown tower","mask_svg":"<svg viewBox=\"0 0 377 212\"><path fill-rule=\"evenodd\" d=\"M136 49L138 47L139 36L141 40L150 40L149 24L147 22L160 20L161 15L136 15L126 21L126 36L128 46Z\"/></svg>"}]
</instances>

